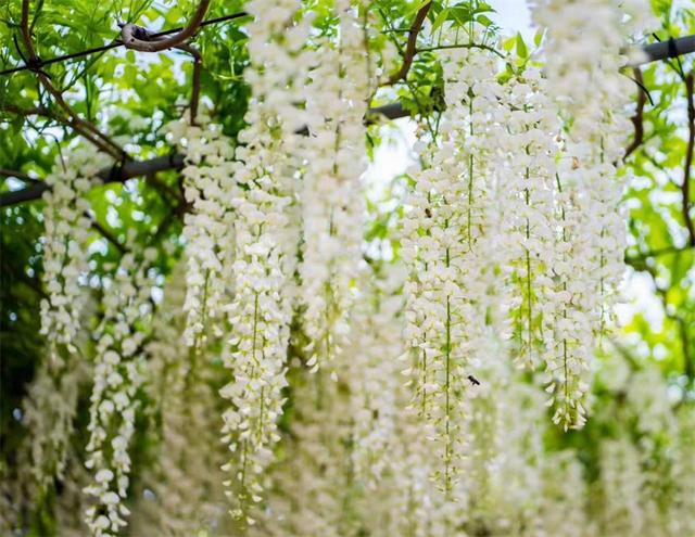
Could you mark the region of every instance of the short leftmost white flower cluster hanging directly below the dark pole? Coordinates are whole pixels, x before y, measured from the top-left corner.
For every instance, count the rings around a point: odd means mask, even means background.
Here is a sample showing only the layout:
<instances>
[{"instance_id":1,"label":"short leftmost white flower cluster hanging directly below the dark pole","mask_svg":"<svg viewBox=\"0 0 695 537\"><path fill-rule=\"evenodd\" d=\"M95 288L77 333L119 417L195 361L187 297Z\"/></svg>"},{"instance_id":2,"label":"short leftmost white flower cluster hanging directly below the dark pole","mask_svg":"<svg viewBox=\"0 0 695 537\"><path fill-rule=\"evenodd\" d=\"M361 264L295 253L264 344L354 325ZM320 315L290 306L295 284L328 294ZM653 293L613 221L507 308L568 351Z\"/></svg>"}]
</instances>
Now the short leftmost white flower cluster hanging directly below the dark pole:
<instances>
[{"instance_id":1,"label":"short leftmost white flower cluster hanging directly below the dark pole","mask_svg":"<svg viewBox=\"0 0 695 537\"><path fill-rule=\"evenodd\" d=\"M103 157L94 150L77 149L56 159L46 178L51 187L43 193L43 282L49 296L41 301L41 334L71 353L76 349L73 340L87 298L80 289L89 260L89 202L85 195L100 182L97 172L103 165Z\"/></svg>"}]
</instances>

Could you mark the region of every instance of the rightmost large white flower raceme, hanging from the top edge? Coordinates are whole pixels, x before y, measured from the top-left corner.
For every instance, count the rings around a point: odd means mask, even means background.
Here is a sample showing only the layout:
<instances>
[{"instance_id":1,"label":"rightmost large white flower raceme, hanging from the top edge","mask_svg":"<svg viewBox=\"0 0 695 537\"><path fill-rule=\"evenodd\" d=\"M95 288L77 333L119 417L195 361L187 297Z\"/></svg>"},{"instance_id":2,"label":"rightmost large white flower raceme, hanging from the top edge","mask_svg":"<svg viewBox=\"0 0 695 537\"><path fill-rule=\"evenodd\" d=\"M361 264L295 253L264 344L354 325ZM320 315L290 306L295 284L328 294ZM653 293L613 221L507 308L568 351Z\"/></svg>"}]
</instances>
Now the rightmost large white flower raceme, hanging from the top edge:
<instances>
[{"instance_id":1,"label":"rightmost large white flower raceme, hanging from the top edge","mask_svg":"<svg viewBox=\"0 0 695 537\"><path fill-rule=\"evenodd\" d=\"M643 0L534 3L547 26L547 92L565 120L557 170L556 217L561 229L555 272L553 348L546 357L548 404L564 429L585 422L584 396L595 337L606 332L624 273L626 221L619 209L630 79L621 51L629 33L650 24ZM586 17L592 13L592 17ZM631 15L626 22L626 13Z\"/></svg>"}]
</instances>

